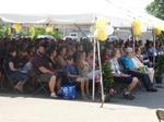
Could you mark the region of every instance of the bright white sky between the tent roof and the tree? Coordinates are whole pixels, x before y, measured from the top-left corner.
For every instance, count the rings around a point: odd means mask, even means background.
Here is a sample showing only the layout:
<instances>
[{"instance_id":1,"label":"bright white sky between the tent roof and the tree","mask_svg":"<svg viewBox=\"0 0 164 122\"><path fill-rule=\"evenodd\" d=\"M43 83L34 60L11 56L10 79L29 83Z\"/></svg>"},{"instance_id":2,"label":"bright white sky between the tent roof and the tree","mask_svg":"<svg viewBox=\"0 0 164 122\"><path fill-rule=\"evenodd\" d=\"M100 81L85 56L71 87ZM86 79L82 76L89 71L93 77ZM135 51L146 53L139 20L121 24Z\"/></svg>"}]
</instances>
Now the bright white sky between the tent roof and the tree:
<instances>
[{"instance_id":1,"label":"bright white sky between the tent roof and the tree","mask_svg":"<svg viewBox=\"0 0 164 122\"><path fill-rule=\"evenodd\" d=\"M131 8L134 9L136 11L144 12L145 7L153 0L112 0L112 1L113 2L115 1L119 5L128 7L128 9Z\"/></svg>"}]
</instances>

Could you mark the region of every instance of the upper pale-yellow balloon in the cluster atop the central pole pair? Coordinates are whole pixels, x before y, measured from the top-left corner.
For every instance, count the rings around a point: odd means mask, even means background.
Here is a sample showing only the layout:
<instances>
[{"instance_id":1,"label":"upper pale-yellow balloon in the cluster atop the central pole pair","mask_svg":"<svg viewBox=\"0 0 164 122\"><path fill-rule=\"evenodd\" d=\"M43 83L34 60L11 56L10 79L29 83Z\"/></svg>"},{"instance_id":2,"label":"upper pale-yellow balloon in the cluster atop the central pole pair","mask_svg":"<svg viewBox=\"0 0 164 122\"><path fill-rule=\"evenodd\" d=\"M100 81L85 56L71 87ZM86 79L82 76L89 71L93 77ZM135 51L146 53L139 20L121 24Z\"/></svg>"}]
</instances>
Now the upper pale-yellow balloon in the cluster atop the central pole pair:
<instances>
[{"instance_id":1,"label":"upper pale-yellow balloon in the cluster atop the central pole pair","mask_svg":"<svg viewBox=\"0 0 164 122\"><path fill-rule=\"evenodd\" d=\"M107 20L106 19L97 19L96 21L95 21L95 28L97 29L103 29L103 28L105 28L106 26L107 26L107 24L108 24L108 22L107 22Z\"/></svg>"}]
</instances>

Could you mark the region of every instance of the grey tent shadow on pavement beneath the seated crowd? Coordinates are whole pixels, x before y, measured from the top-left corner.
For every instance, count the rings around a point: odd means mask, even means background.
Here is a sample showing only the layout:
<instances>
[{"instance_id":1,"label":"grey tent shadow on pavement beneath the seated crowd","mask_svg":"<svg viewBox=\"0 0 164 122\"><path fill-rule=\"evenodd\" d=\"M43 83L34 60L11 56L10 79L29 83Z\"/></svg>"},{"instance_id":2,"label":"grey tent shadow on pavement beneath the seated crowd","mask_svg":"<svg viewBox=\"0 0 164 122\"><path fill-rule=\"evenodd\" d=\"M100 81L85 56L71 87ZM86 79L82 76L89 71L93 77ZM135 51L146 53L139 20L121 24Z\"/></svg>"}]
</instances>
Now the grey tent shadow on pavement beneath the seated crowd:
<instances>
[{"instance_id":1,"label":"grey tent shadow on pavement beneath the seated crowd","mask_svg":"<svg viewBox=\"0 0 164 122\"><path fill-rule=\"evenodd\" d=\"M110 105L122 105L122 106L133 106L133 107L144 107L149 109L164 109L164 84L157 84L156 85L159 91L157 93L149 93L144 90L137 89L134 90L134 100L126 100L124 99L122 95L117 95L114 98L110 98L109 101L106 101L105 105L110 103ZM38 94L36 96L33 96L32 94L11 94L9 91L1 91L0 96L2 97L11 97L11 98L17 98L17 97L23 97L23 98L40 98L40 99L51 99L49 96L45 96L44 94ZM74 100L70 99L55 99L55 100L67 100L70 102L73 101L81 101L81 102L93 102L93 103L98 103L101 97L96 97L95 101L92 101L92 98L89 100L83 100L79 97ZM104 105L104 107L105 107ZM101 102L99 102L101 106Z\"/></svg>"}]
</instances>

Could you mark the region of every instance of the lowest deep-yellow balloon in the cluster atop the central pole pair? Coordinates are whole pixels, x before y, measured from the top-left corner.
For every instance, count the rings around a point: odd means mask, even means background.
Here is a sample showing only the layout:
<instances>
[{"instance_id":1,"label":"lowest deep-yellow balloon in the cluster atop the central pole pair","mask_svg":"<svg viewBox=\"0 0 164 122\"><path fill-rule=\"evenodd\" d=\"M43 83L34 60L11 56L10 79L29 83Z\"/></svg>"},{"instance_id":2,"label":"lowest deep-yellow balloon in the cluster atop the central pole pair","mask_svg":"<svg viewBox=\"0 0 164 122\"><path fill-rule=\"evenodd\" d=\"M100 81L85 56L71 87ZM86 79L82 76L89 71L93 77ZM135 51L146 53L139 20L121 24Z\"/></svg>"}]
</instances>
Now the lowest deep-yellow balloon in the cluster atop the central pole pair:
<instances>
[{"instance_id":1,"label":"lowest deep-yellow balloon in the cluster atop the central pole pair","mask_svg":"<svg viewBox=\"0 0 164 122\"><path fill-rule=\"evenodd\" d=\"M95 34L95 38L99 41L105 41L107 39L108 35L105 34L104 29L97 29Z\"/></svg>"}]
</instances>

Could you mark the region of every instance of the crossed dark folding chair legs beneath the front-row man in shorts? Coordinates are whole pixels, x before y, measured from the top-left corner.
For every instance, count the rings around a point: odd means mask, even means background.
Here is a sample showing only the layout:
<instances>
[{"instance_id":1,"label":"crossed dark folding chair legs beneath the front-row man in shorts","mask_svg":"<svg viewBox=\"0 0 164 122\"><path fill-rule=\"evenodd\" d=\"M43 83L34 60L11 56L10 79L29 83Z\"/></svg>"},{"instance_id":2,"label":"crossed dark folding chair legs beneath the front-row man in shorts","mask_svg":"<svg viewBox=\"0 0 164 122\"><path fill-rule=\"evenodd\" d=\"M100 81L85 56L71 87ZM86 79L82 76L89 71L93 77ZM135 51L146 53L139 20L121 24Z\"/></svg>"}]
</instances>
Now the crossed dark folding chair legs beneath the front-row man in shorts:
<instances>
[{"instance_id":1,"label":"crossed dark folding chair legs beneath the front-row man in shorts","mask_svg":"<svg viewBox=\"0 0 164 122\"><path fill-rule=\"evenodd\" d=\"M39 87L34 91L33 96L35 96L36 94L38 94L40 90L43 90L46 94L46 96L49 96L49 94L48 94L48 91L46 89L47 83L42 82L39 80L39 76L35 72L33 72L33 74L34 74L34 77L36 78L36 82L39 85Z\"/></svg>"}]
</instances>

